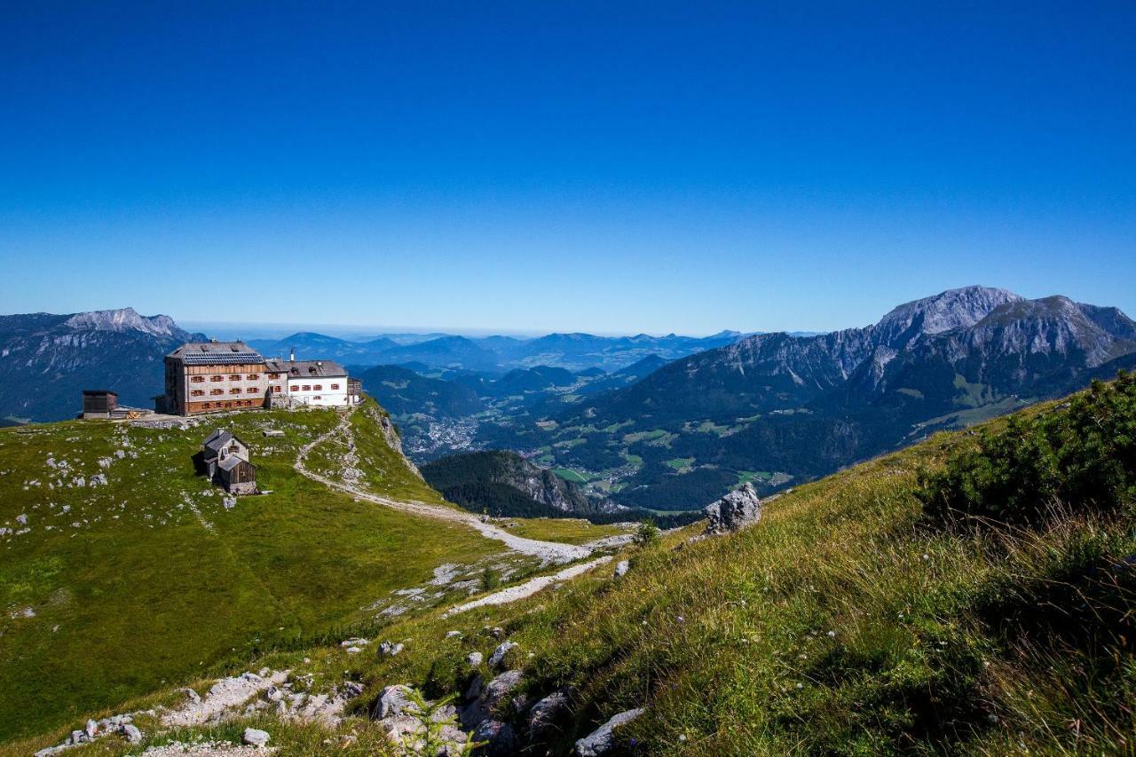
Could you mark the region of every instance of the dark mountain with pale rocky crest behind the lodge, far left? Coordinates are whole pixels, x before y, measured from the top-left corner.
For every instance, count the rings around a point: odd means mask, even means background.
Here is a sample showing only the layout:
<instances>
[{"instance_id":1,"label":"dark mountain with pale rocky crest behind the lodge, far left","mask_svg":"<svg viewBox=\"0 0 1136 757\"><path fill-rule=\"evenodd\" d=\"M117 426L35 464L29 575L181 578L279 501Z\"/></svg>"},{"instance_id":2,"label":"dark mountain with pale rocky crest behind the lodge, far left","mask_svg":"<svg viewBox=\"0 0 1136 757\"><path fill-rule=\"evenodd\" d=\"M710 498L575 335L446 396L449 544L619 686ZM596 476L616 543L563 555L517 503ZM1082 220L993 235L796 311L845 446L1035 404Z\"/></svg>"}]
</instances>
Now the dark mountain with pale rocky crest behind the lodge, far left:
<instances>
[{"instance_id":1,"label":"dark mountain with pale rocky crest behind the lodge, far left","mask_svg":"<svg viewBox=\"0 0 1136 757\"><path fill-rule=\"evenodd\" d=\"M162 391L162 356L193 339L204 336L133 308L0 317L0 416L73 417L83 389L110 389L123 405L150 407Z\"/></svg>"}]
</instances>

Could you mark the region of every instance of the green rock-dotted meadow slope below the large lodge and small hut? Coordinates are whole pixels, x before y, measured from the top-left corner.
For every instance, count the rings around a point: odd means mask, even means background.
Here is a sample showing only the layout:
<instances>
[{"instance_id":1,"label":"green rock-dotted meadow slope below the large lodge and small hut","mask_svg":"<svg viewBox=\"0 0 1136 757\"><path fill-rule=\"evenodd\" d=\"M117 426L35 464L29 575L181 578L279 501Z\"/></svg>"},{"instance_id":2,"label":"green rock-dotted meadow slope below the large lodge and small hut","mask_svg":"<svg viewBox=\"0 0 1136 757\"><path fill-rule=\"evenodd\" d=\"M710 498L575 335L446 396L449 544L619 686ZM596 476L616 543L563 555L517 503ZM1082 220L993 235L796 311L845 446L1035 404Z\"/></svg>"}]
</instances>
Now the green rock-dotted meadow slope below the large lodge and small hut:
<instances>
[{"instance_id":1,"label":"green rock-dotted meadow slope below the large lodge and small hut","mask_svg":"<svg viewBox=\"0 0 1136 757\"><path fill-rule=\"evenodd\" d=\"M360 607L423 582L441 563L500 551L468 529L353 502L296 474L295 450L336 421L333 411L249 413L186 432L103 422L0 431L0 525L19 527L26 514L31 527L0 536L0 740L261 644L357 622ZM226 510L194 475L190 457L215 425L250 444L272 494ZM286 439L264 439L262 425ZM393 461L369 431L373 456ZM59 477L49 456L72 464L70 481L99 473L98 459L116 449L139 457L111 463L108 485L48 488ZM376 490L437 497L401 464L382 471ZM20 616L24 608L34 617Z\"/></svg>"}]
</instances>

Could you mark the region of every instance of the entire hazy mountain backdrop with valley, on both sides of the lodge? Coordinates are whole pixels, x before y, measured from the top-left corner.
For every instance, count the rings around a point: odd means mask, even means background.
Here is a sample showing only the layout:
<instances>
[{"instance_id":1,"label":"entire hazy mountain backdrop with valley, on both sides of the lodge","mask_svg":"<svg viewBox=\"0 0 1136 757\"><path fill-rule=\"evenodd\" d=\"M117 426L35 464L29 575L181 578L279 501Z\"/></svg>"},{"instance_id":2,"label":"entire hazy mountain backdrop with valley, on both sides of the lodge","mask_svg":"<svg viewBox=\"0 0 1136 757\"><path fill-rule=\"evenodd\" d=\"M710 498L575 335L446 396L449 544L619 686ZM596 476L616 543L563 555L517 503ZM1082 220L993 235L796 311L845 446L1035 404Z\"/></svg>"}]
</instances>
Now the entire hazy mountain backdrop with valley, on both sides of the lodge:
<instances>
[{"instance_id":1,"label":"entire hazy mountain backdrop with valley, on both sides of the lodge","mask_svg":"<svg viewBox=\"0 0 1136 757\"><path fill-rule=\"evenodd\" d=\"M824 334L431 336L252 343L352 366L419 463L508 449L593 500L657 510L775 491L1136 365L1120 310L987 286ZM161 356L203 338L130 308L0 317L0 417L70 417L91 388L148 406Z\"/></svg>"}]
</instances>

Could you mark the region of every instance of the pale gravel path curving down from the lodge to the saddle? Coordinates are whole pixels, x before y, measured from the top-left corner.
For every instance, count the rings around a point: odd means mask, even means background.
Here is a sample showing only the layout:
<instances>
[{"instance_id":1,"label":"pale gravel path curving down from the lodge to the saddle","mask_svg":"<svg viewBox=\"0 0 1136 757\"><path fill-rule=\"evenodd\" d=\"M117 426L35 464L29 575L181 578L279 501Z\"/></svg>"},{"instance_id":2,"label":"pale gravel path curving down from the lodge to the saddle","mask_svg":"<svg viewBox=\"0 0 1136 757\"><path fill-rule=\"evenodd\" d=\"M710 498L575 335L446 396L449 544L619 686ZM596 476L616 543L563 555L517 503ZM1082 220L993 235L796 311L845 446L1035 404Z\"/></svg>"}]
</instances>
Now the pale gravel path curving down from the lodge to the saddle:
<instances>
[{"instance_id":1,"label":"pale gravel path curving down from the lodge to the saddle","mask_svg":"<svg viewBox=\"0 0 1136 757\"><path fill-rule=\"evenodd\" d=\"M524 539L515 534L509 533L504 529L495 526L491 523L482 523L481 518L470 513L462 513L449 507L442 507L440 505L427 505L426 502L414 502L414 501L401 501L396 499L390 499L387 497L379 497L377 494L371 494L370 492L364 491L358 486L353 486L343 481L333 481L326 476L323 476L314 471L309 471L304 465L304 459L308 454L315 449L318 444L326 441L328 438L334 435L340 431L346 431L349 434L350 430L350 415L344 415L340 425L327 432L326 434L319 436L315 441L304 444L300 448L300 454L295 459L295 469L302 475L308 476L312 481L318 481L319 483L328 486L329 489L335 489L352 497L358 497L359 499L365 499L368 502L374 502L376 505L382 505L383 507L390 507L395 510L402 510L403 513L410 513L412 515L420 515L423 517L436 518L438 521L450 521L452 523L462 523L471 529L476 529L486 539L494 539L504 543L506 547L515 551L521 552L523 555L532 555L533 557L541 558L544 563L571 563L574 560L584 559L590 556L593 551L593 547L590 544L561 544L556 541L540 541L537 539Z\"/></svg>"}]
</instances>

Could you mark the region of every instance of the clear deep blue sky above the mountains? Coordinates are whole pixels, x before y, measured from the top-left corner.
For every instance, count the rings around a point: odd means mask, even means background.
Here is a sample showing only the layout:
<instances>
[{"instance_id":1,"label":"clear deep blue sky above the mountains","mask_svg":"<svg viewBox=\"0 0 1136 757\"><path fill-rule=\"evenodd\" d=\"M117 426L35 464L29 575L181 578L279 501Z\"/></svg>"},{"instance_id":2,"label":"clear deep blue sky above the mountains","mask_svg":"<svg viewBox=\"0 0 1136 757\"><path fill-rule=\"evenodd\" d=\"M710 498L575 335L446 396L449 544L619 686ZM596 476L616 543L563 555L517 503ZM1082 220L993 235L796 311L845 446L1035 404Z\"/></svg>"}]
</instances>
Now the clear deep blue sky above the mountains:
<instances>
[{"instance_id":1,"label":"clear deep blue sky above the mountains","mask_svg":"<svg viewBox=\"0 0 1136 757\"><path fill-rule=\"evenodd\" d=\"M8 3L0 311L1136 316L1134 40L1131 0Z\"/></svg>"}]
</instances>

